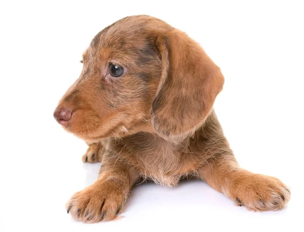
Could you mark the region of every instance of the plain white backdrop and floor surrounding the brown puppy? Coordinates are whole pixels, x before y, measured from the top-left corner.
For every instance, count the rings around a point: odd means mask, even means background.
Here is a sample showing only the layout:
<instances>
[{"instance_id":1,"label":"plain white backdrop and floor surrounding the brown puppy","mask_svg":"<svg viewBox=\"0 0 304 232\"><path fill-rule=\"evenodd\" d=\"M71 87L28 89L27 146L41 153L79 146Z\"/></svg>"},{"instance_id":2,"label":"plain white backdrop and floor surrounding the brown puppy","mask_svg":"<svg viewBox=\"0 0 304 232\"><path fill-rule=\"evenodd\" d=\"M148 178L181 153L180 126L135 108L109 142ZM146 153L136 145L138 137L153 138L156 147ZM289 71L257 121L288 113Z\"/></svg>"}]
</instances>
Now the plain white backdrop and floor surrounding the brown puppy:
<instances>
[{"instance_id":1,"label":"plain white backdrop and floor surrounding the brown puppy","mask_svg":"<svg viewBox=\"0 0 304 232\"><path fill-rule=\"evenodd\" d=\"M303 229L304 8L301 1L4 1L0 5L0 231L300 231ZM288 207L251 212L202 181L136 186L124 217L75 222L64 205L93 183L86 144L53 119L101 29L158 17L221 67L215 110L241 166L291 187ZM302 230L301 230L302 231Z\"/></svg>"}]
</instances>

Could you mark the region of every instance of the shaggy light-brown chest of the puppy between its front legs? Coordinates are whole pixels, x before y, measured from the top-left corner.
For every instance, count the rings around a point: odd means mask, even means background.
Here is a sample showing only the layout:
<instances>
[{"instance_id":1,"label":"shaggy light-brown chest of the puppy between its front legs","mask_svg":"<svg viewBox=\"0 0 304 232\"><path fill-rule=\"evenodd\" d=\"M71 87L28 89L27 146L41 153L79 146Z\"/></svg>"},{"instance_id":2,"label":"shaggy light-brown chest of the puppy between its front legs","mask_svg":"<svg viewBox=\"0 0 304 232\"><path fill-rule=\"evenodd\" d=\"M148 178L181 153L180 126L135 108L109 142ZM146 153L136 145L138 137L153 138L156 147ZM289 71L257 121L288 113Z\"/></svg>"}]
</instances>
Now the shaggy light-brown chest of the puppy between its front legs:
<instances>
[{"instance_id":1,"label":"shaggy light-brown chest of the puppy between its front legs","mask_svg":"<svg viewBox=\"0 0 304 232\"><path fill-rule=\"evenodd\" d=\"M196 160L189 159L189 155L182 153L179 147L149 134L140 133L116 142L113 148L143 178L160 185L176 185L181 177L192 174L197 166Z\"/></svg>"}]
</instances>

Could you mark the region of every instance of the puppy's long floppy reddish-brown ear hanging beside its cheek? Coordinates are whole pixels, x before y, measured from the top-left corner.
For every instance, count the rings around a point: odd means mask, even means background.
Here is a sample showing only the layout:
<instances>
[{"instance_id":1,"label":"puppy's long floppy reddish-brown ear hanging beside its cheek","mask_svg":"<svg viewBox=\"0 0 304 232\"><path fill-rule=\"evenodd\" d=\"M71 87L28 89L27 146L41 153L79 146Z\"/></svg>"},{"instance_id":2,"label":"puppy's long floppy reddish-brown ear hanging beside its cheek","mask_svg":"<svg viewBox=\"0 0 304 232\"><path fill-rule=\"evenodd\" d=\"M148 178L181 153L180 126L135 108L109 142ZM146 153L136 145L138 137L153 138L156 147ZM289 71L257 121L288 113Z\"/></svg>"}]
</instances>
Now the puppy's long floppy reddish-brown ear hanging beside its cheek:
<instances>
[{"instance_id":1,"label":"puppy's long floppy reddish-brown ear hanging beside its cheek","mask_svg":"<svg viewBox=\"0 0 304 232\"><path fill-rule=\"evenodd\" d=\"M162 76L151 122L161 137L178 142L204 123L224 78L200 45L177 29L158 36L156 46Z\"/></svg>"}]
</instances>

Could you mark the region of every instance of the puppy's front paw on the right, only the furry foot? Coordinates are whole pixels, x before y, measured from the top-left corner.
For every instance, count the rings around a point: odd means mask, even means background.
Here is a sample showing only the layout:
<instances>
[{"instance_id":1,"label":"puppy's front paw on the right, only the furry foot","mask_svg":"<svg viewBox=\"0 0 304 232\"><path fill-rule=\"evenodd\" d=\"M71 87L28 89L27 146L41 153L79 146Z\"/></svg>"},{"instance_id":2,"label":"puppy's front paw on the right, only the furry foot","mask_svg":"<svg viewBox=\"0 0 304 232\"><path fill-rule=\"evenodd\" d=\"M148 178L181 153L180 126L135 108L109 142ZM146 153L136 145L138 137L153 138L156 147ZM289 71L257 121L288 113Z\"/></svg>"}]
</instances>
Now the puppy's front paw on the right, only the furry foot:
<instances>
[{"instance_id":1,"label":"puppy's front paw on the right, only the furry foot","mask_svg":"<svg viewBox=\"0 0 304 232\"><path fill-rule=\"evenodd\" d=\"M279 179L260 174L237 178L231 189L237 205L253 211L283 209L290 199L290 189Z\"/></svg>"}]
</instances>

